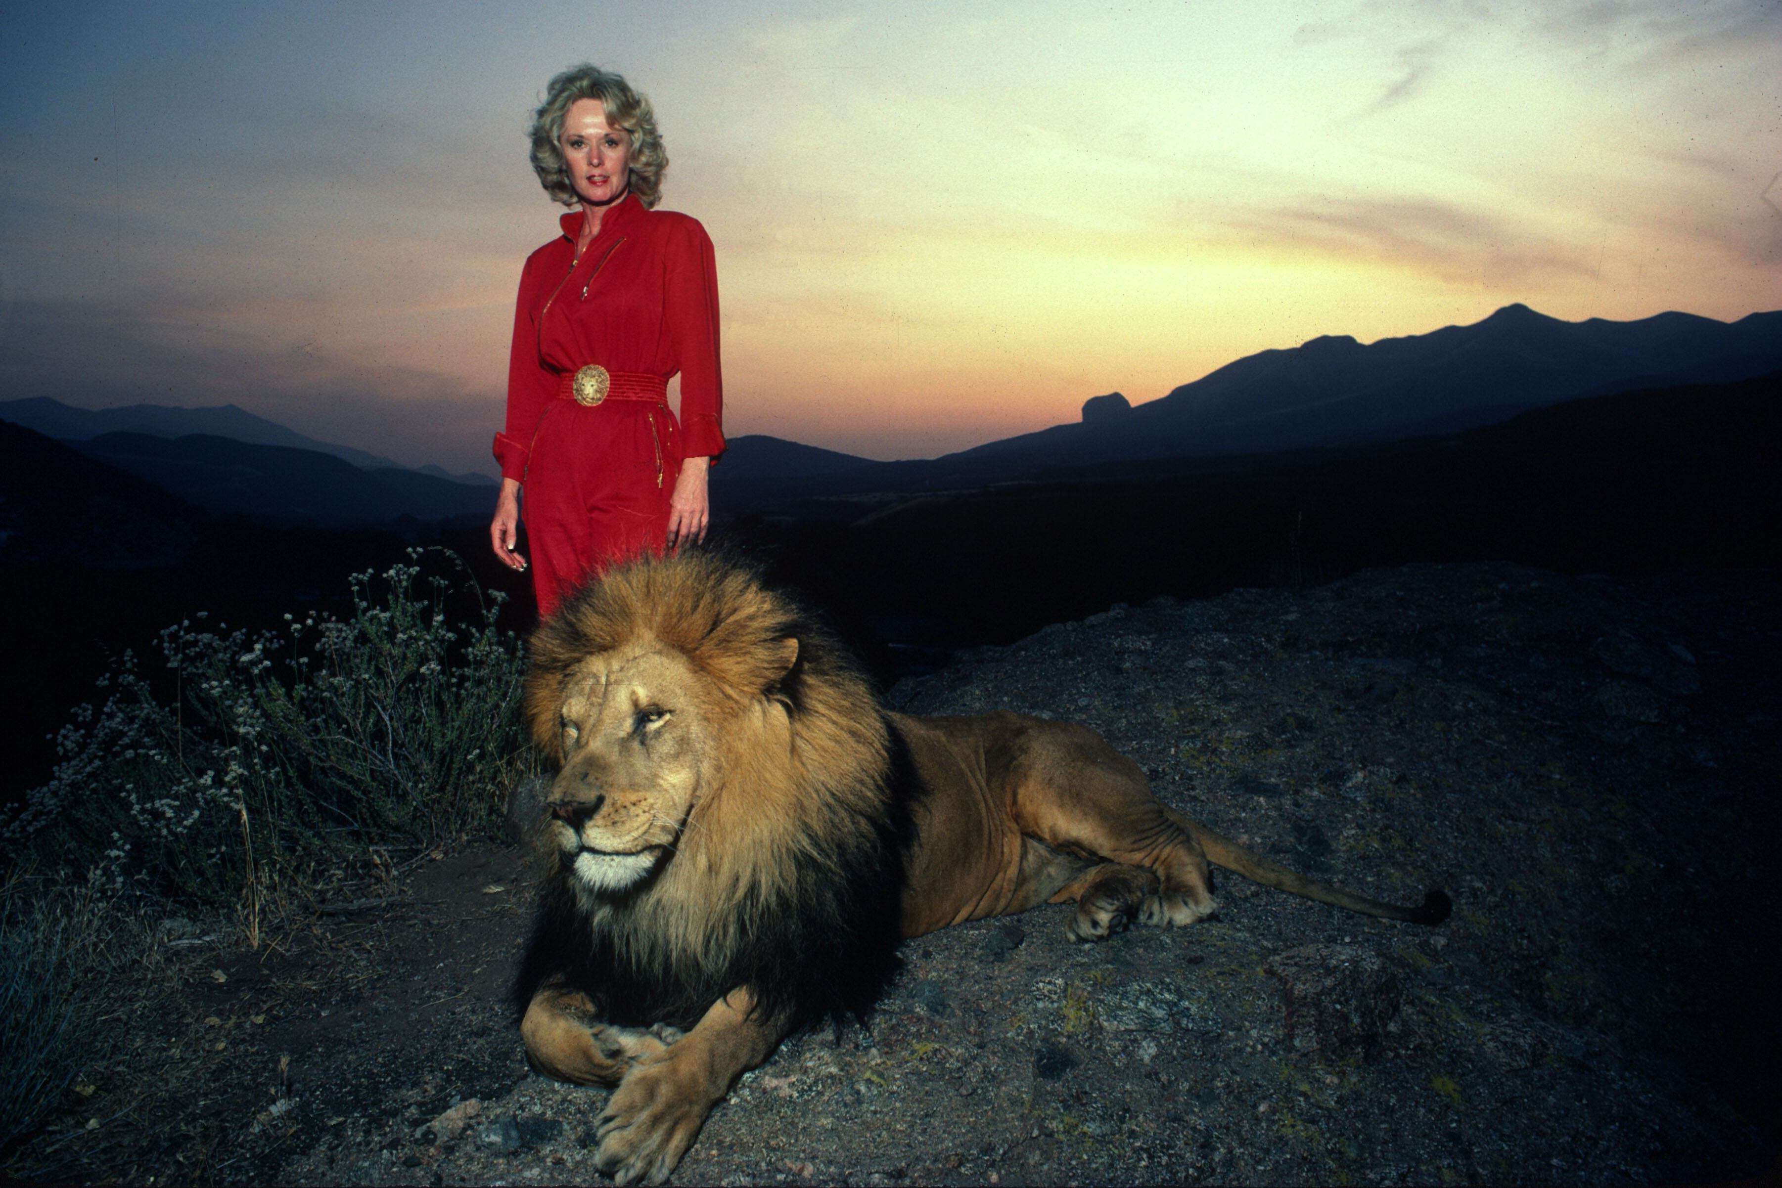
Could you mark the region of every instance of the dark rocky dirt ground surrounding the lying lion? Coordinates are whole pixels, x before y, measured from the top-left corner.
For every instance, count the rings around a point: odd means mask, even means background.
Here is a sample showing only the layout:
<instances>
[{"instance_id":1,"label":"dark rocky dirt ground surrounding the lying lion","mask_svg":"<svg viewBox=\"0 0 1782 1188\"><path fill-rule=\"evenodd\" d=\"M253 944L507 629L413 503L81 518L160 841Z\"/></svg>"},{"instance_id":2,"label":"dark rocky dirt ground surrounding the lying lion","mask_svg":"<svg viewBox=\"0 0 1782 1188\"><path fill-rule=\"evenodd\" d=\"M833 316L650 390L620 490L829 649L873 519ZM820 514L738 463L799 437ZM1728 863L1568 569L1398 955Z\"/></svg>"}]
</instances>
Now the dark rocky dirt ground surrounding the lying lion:
<instances>
[{"instance_id":1,"label":"dark rocky dirt ground surrounding the lying lion","mask_svg":"<svg viewBox=\"0 0 1782 1188\"><path fill-rule=\"evenodd\" d=\"M905 682L909 712L1099 728L1157 793L1390 924L1219 878L1185 930L1067 908L905 946L868 1029L804 1035L675 1183L1688 1183L1778 1152L1775 575L1374 570L1160 598ZM182 937L46 1181L595 1183L604 1092L527 1072L531 860L346 887L258 951ZM180 932L175 923L169 939Z\"/></svg>"}]
</instances>

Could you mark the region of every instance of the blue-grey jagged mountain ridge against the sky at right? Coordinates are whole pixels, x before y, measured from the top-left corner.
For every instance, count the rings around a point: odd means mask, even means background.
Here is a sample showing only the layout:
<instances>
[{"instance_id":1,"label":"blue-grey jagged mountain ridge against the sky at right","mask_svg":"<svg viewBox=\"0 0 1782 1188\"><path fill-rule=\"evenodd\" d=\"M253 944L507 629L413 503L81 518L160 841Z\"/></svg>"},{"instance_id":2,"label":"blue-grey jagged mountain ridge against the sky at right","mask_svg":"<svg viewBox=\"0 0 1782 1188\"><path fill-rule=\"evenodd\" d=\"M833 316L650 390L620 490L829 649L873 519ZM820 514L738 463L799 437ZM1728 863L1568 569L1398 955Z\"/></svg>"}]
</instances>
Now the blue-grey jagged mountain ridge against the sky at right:
<instances>
[{"instance_id":1,"label":"blue-grey jagged mountain ridge against the sky at right","mask_svg":"<svg viewBox=\"0 0 1782 1188\"><path fill-rule=\"evenodd\" d=\"M1563 322L1508 305L1472 326L1363 346L1324 335L1262 351L1130 413L1096 397L1083 420L948 454L952 468L1083 465L1381 442L1492 424L1582 395L1745 379L1782 367L1782 312L1716 322L1659 313ZM1105 408L1105 411L1103 411Z\"/></svg>"}]
</instances>

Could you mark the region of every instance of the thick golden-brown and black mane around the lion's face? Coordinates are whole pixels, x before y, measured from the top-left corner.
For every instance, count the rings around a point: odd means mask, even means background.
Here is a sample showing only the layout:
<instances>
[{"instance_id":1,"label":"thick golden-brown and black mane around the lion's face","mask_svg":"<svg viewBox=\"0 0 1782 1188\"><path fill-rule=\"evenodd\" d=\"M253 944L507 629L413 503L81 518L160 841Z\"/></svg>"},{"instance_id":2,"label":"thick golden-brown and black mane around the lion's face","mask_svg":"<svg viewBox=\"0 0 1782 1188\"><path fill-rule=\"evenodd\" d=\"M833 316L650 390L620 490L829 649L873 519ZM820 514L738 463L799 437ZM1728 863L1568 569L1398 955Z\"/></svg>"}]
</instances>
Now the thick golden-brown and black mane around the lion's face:
<instances>
[{"instance_id":1,"label":"thick golden-brown and black mane around the lion's face","mask_svg":"<svg viewBox=\"0 0 1782 1188\"><path fill-rule=\"evenodd\" d=\"M533 636L526 712L542 750L561 762L576 666L643 638L681 652L715 704L781 702L791 748L757 753L759 736L715 730L677 851L622 896L581 898L552 858L515 1005L560 976L627 1026L690 1028L738 987L791 1026L864 1017L900 967L914 787L871 684L748 566L688 550L609 572ZM788 638L798 654L781 675Z\"/></svg>"}]
</instances>

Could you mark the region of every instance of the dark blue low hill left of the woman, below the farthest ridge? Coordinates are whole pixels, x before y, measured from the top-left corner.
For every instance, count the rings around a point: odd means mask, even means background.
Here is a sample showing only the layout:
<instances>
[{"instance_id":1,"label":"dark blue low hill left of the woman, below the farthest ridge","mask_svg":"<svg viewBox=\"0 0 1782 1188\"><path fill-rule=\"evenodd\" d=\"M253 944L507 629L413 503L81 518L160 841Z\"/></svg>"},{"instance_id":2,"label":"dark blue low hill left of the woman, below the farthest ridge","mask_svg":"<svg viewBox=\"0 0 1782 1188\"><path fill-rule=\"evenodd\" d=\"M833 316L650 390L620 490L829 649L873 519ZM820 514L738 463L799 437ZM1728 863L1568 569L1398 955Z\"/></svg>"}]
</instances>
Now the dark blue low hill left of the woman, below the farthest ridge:
<instances>
[{"instance_id":1,"label":"dark blue low hill left of the woman, below the farthest ridge","mask_svg":"<svg viewBox=\"0 0 1782 1188\"><path fill-rule=\"evenodd\" d=\"M488 486L399 467L360 470L312 449L251 445L198 433L173 440L105 433L73 447L217 515L351 527L403 517L485 517L494 508Z\"/></svg>"}]
</instances>

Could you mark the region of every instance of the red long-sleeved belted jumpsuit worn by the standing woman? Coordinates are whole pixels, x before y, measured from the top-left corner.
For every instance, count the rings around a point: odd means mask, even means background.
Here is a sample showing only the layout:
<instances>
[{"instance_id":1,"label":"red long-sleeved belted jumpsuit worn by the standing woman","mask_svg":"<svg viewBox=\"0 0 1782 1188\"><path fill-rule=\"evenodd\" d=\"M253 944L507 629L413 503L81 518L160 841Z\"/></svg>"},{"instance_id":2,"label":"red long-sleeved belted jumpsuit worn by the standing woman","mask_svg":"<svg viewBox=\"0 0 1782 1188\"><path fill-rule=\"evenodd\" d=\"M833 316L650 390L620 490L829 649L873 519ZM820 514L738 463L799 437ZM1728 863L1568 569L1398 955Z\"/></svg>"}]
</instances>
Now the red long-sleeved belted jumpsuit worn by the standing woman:
<instances>
[{"instance_id":1,"label":"red long-sleeved belted jumpsuit worn by the standing woman","mask_svg":"<svg viewBox=\"0 0 1782 1188\"><path fill-rule=\"evenodd\" d=\"M718 273L699 221L645 210L625 194L576 256L581 212L520 271L508 362L508 424L495 435L501 476L526 492L538 616L583 581L668 538L668 499L683 458L723 452ZM570 379L599 363L613 376L595 406ZM681 420L666 383L681 372Z\"/></svg>"}]
</instances>

